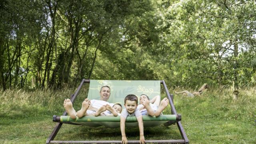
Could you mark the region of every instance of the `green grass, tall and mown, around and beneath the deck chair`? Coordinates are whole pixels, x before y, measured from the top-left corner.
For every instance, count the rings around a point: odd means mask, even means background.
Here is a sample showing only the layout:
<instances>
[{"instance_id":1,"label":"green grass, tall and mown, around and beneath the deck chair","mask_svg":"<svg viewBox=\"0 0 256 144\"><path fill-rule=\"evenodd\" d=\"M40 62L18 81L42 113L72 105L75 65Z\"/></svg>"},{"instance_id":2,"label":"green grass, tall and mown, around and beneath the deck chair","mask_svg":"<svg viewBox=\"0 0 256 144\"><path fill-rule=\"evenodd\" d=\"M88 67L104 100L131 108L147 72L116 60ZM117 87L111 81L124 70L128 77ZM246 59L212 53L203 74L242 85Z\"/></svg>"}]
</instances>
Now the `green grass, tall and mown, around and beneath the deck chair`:
<instances>
[{"instance_id":1,"label":"green grass, tall and mown, around and beneath the deck chair","mask_svg":"<svg viewBox=\"0 0 256 144\"><path fill-rule=\"evenodd\" d=\"M172 90L170 90L173 93ZM64 112L63 100L74 90L0 91L0 143L42 144L52 132L52 115ZM76 100L80 108L83 90ZM164 94L162 95L164 97ZM256 95L253 88L242 90L232 100L230 89L215 89L201 96L174 96L176 111L191 144L256 144ZM170 114L170 107L164 110ZM128 140L139 140L138 128L126 130ZM144 128L146 140L181 139L176 125ZM119 128L90 128L63 124L54 140L121 140Z\"/></svg>"}]
</instances>

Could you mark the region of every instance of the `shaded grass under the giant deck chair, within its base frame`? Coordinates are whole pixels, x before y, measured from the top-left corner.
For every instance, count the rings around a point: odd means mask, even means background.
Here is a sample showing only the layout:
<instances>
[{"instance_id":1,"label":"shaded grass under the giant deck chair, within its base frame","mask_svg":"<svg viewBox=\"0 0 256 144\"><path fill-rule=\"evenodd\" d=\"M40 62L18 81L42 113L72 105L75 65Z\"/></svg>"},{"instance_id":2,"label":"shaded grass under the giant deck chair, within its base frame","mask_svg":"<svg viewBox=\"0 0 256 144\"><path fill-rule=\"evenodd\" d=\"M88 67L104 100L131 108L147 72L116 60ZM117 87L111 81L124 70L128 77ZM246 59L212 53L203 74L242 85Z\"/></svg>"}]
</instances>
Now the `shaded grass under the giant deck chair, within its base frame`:
<instances>
[{"instance_id":1,"label":"shaded grass under the giant deck chair, within its base frame","mask_svg":"<svg viewBox=\"0 0 256 144\"><path fill-rule=\"evenodd\" d=\"M128 140L139 140L139 128L126 128ZM182 139L176 125L144 128L146 140ZM74 126L63 124L54 140L121 140L120 128Z\"/></svg>"}]
</instances>

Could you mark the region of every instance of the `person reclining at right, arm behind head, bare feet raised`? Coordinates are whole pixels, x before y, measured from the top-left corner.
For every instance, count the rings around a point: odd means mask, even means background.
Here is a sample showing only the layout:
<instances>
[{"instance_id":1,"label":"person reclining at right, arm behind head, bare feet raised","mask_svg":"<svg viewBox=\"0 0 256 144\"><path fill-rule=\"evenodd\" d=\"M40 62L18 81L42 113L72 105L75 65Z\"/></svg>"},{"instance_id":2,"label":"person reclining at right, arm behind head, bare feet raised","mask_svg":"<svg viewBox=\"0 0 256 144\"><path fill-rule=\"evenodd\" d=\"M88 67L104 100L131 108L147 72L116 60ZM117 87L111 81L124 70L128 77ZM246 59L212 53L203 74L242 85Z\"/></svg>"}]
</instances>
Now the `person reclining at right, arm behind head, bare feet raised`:
<instances>
[{"instance_id":1,"label":"person reclining at right, arm behind head, bare feet raised","mask_svg":"<svg viewBox=\"0 0 256 144\"><path fill-rule=\"evenodd\" d=\"M138 109L142 115L159 116L169 104L167 98L164 98L162 101L160 100L161 98L159 95L150 100L146 94L142 94L140 96Z\"/></svg>"}]
</instances>

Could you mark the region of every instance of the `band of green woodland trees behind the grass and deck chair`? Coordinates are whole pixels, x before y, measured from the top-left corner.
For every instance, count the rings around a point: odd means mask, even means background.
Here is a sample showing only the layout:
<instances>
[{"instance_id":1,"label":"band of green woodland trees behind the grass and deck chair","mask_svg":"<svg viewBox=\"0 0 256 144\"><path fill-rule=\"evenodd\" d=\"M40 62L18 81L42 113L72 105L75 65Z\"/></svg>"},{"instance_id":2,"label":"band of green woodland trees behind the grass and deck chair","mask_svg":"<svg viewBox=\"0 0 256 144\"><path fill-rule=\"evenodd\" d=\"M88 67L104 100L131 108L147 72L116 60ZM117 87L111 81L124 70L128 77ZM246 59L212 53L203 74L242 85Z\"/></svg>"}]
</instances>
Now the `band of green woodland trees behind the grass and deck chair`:
<instances>
[{"instance_id":1,"label":"band of green woodland trees behind the grass and deck chair","mask_svg":"<svg viewBox=\"0 0 256 144\"><path fill-rule=\"evenodd\" d=\"M2 1L0 87L81 79L255 86L255 2Z\"/></svg>"}]
</instances>

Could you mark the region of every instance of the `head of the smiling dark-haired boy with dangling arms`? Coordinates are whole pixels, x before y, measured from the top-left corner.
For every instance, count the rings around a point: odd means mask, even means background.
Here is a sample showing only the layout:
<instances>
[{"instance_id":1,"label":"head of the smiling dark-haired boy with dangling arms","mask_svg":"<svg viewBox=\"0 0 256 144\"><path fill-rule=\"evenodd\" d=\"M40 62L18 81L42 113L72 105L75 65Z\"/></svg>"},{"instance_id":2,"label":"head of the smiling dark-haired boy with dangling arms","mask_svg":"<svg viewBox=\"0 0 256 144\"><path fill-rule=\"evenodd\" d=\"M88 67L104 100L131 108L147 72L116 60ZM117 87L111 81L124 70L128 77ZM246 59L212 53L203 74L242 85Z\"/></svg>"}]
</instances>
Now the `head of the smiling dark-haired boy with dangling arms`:
<instances>
[{"instance_id":1,"label":"head of the smiling dark-haired boy with dangling arms","mask_svg":"<svg viewBox=\"0 0 256 144\"><path fill-rule=\"evenodd\" d=\"M129 94L124 98L124 107L127 112L132 114L138 106L138 98L134 94Z\"/></svg>"}]
</instances>

